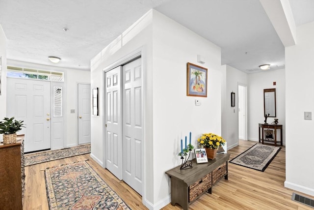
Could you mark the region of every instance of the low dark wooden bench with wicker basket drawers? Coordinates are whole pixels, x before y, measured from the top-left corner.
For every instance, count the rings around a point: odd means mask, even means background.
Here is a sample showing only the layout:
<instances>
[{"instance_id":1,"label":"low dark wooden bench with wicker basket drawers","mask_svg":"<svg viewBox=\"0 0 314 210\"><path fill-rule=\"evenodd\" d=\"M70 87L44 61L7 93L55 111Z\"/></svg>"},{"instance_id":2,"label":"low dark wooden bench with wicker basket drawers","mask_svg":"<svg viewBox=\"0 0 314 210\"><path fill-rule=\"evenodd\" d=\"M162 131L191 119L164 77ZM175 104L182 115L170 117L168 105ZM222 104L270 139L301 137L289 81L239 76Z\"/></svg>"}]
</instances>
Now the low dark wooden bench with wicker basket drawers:
<instances>
[{"instance_id":1,"label":"low dark wooden bench with wicker basket drawers","mask_svg":"<svg viewBox=\"0 0 314 210\"><path fill-rule=\"evenodd\" d=\"M228 160L230 154L217 154L215 160L197 164L192 160L191 169L180 170L180 166L166 174L171 178L171 204L179 204L183 210L206 191L211 194L211 187L222 177L228 180Z\"/></svg>"}]
</instances>

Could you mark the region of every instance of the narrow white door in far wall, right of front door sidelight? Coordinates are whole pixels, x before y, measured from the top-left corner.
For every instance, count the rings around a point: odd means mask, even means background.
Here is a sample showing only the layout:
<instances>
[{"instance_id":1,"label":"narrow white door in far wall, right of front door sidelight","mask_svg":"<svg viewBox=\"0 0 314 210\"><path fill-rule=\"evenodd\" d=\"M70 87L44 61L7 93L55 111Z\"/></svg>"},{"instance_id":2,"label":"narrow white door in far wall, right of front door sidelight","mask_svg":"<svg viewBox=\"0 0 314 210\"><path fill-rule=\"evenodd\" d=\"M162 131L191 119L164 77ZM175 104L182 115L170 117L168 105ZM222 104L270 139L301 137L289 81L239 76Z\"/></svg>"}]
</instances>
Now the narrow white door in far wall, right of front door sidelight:
<instances>
[{"instance_id":1,"label":"narrow white door in far wall, right of front door sidelight","mask_svg":"<svg viewBox=\"0 0 314 210\"><path fill-rule=\"evenodd\" d=\"M90 143L90 85L78 84L78 144Z\"/></svg>"}]
</instances>

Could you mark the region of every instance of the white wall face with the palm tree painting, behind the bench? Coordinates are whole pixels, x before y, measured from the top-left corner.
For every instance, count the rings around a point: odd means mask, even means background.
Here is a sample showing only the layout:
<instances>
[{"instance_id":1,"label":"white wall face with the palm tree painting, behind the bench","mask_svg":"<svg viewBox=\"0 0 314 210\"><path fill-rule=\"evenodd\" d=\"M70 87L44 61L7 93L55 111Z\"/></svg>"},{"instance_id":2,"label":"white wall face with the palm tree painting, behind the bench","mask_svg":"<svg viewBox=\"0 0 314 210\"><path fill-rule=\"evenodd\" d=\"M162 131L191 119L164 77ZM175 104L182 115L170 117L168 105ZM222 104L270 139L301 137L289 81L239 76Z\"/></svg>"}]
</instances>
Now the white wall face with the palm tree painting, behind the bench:
<instances>
[{"instance_id":1,"label":"white wall face with the palm tree painting, behind the bench","mask_svg":"<svg viewBox=\"0 0 314 210\"><path fill-rule=\"evenodd\" d=\"M197 55L204 57L205 64L197 63ZM208 68L207 97L186 96L186 62ZM180 140L191 131L192 145L197 146L202 133L221 135L222 69L219 47L153 12L155 204L170 194L170 179L164 172L181 164ZM201 106L195 106L195 99Z\"/></svg>"}]
</instances>

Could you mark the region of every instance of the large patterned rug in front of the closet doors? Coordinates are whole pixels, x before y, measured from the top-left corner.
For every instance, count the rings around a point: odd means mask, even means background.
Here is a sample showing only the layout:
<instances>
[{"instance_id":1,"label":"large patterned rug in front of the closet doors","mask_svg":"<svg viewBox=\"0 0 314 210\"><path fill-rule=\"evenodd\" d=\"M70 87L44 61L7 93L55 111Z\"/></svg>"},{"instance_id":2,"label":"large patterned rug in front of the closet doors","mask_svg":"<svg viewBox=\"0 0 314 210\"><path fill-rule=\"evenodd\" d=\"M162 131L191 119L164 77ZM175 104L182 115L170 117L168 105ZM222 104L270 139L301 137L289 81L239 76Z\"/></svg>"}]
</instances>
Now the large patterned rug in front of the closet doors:
<instances>
[{"instance_id":1,"label":"large patterned rug in front of the closet doors","mask_svg":"<svg viewBox=\"0 0 314 210\"><path fill-rule=\"evenodd\" d=\"M131 210L86 161L45 170L50 210Z\"/></svg>"}]
</instances>

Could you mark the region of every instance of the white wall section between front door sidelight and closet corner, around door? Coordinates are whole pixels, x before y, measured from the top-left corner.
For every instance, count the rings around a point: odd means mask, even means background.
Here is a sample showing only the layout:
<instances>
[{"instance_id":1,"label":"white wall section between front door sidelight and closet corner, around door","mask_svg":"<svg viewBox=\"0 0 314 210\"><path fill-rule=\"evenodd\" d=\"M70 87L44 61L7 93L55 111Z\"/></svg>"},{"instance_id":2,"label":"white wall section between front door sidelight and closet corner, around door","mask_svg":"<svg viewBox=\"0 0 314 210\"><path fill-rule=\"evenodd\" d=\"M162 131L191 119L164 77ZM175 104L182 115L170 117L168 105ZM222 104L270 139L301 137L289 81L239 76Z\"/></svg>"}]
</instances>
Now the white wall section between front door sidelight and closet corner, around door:
<instances>
[{"instance_id":1,"label":"white wall section between front door sidelight and closet corner, around door","mask_svg":"<svg viewBox=\"0 0 314 210\"><path fill-rule=\"evenodd\" d=\"M78 145L78 83L90 84L90 71L67 69L66 70L66 146ZM75 113L71 113L71 109Z\"/></svg>"}]
</instances>

